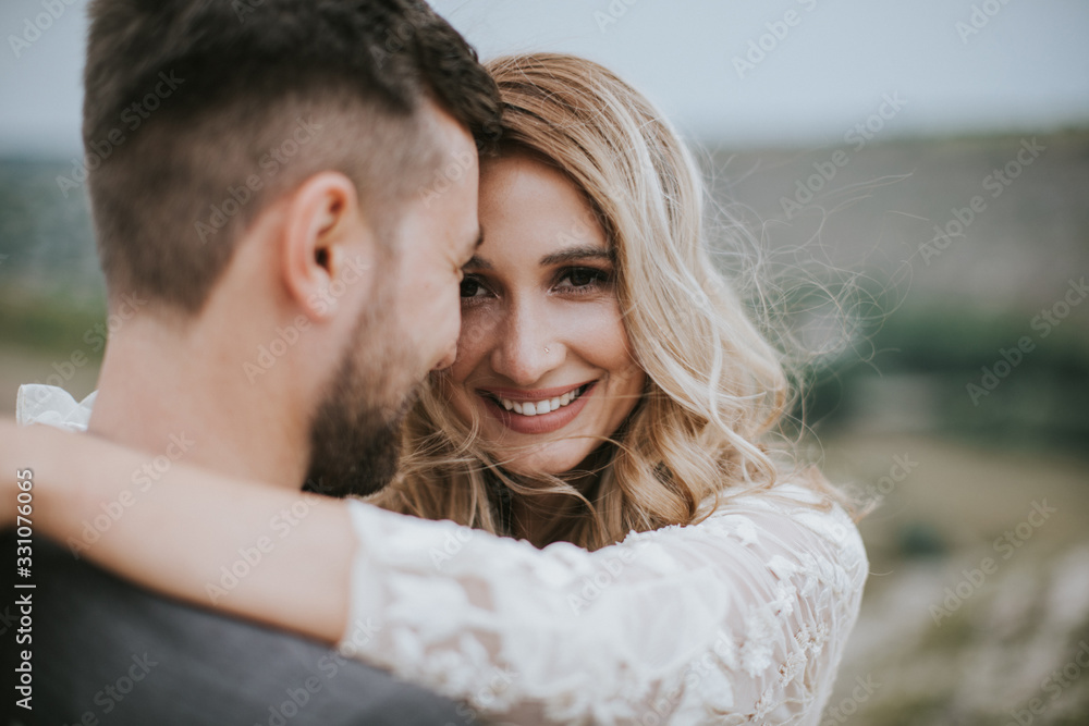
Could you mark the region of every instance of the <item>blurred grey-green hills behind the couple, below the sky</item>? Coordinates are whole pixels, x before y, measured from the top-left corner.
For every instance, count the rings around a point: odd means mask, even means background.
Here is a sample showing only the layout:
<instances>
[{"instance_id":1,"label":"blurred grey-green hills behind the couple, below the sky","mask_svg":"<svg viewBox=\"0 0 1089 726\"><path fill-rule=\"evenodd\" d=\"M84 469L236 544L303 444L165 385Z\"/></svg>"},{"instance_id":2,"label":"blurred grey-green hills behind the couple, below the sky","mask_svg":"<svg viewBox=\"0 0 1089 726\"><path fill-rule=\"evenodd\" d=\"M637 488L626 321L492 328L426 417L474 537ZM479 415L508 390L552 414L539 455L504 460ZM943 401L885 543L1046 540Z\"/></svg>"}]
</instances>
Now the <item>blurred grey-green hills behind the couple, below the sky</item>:
<instances>
[{"instance_id":1,"label":"blurred grey-green hills behind the couple, below the sky","mask_svg":"<svg viewBox=\"0 0 1089 726\"><path fill-rule=\"evenodd\" d=\"M818 432L1075 450L1087 440L1089 305L1065 300L1089 271L1089 130L855 134L745 152L703 144L697 157L712 230L734 239L723 267L755 270L786 310L773 323L810 352L805 414ZM0 159L0 361L24 379L45 380L81 350L93 383L100 356L87 341L105 291L84 188L64 181L74 163ZM1049 311L1065 315L1052 324ZM0 374L2 410L12 376Z\"/></svg>"}]
</instances>

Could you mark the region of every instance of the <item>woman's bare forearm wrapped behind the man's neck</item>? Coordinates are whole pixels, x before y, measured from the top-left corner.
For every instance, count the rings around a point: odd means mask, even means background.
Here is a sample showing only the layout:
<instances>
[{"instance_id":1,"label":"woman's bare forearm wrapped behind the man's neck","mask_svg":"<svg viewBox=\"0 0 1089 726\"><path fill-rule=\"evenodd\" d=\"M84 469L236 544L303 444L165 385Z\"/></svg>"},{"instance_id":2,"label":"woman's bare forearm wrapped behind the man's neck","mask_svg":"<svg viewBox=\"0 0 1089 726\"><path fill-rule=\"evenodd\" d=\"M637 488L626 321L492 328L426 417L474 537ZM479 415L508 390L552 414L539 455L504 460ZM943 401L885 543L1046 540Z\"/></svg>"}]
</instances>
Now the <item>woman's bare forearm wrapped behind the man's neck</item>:
<instances>
[{"instance_id":1,"label":"woman's bare forearm wrapped behind the man's neck","mask_svg":"<svg viewBox=\"0 0 1089 726\"><path fill-rule=\"evenodd\" d=\"M154 458L2 420L3 524L15 524L15 472L29 469L35 533L77 556L197 605L329 643L344 636L356 550L345 502L178 462L158 480L134 477Z\"/></svg>"}]
</instances>

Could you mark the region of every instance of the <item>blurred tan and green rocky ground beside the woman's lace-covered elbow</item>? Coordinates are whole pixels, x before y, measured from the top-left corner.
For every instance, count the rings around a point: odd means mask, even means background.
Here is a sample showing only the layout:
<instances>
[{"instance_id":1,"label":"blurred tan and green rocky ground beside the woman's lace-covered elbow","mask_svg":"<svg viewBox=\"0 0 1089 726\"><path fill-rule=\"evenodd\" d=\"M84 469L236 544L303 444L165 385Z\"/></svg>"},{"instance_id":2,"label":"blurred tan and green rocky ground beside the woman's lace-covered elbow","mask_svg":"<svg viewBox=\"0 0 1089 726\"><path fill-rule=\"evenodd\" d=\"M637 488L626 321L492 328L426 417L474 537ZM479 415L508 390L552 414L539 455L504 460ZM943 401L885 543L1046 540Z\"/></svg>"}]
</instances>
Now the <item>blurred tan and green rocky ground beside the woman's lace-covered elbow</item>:
<instances>
[{"instance_id":1,"label":"blurred tan and green rocky ground beside the woman's lace-covered elbow","mask_svg":"<svg viewBox=\"0 0 1089 726\"><path fill-rule=\"evenodd\" d=\"M870 578L822 723L1089 723L1089 463L925 436L825 445L841 481L888 492L860 525ZM897 456L917 466L876 484Z\"/></svg>"}]
</instances>

